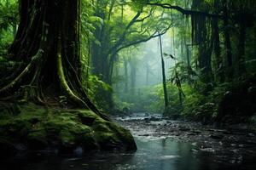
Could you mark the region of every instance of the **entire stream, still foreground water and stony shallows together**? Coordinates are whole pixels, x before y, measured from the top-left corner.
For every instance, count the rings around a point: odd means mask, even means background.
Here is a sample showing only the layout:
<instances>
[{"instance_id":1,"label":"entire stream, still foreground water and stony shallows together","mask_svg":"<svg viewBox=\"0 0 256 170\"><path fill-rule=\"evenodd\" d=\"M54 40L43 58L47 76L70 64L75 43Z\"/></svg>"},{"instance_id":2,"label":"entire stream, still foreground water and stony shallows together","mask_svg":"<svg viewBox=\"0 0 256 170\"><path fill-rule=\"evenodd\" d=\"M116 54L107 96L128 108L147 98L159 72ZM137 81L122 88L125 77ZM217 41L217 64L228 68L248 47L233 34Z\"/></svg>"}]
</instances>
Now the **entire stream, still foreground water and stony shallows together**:
<instances>
[{"instance_id":1,"label":"entire stream, still foreground water and stony shallows together","mask_svg":"<svg viewBox=\"0 0 256 170\"><path fill-rule=\"evenodd\" d=\"M137 113L114 120L131 130L137 152L57 156L42 150L0 161L1 170L207 170L256 169L255 133L173 121Z\"/></svg>"}]
</instances>

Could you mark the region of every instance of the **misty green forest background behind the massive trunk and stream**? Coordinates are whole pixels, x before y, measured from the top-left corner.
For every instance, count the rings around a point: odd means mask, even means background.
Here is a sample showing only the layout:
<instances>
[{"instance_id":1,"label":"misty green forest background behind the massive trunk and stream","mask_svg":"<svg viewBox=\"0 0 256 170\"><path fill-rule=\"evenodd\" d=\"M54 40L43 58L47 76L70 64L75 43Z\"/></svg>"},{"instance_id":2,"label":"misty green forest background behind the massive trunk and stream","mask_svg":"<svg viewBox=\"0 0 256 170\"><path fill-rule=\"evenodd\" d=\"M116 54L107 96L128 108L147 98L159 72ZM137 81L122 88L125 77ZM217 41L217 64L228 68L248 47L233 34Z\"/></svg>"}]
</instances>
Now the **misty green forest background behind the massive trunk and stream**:
<instances>
[{"instance_id":1,"label":"misty green forest background behind the massive trunk and stream","mask_svg":"<svg viewBox=\"0 0 256 170\"><path fill-rule=\"evenodd\" d=\"M20 36L20 2L0 2L4 88L14 77L6 73L27 62L14 57L18 51L11 45ZM77 93L85 92L110 114L143 111L203 122L250 122L256 111L255 10L254 0L81 0L78 76L84 89ZM72 74L68 77L72 82ZM33 86L21 84L25 100L39 95ZM40 96L39 103L47 105L69 102L65 95Z\"/></svg>"}]
</instances>

